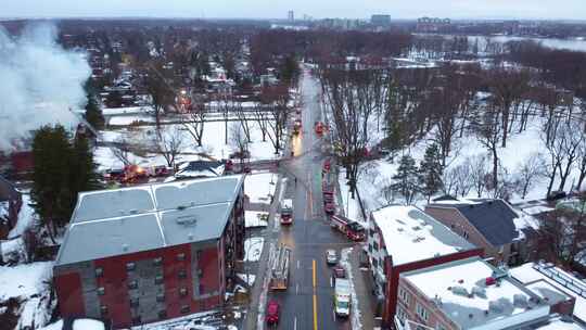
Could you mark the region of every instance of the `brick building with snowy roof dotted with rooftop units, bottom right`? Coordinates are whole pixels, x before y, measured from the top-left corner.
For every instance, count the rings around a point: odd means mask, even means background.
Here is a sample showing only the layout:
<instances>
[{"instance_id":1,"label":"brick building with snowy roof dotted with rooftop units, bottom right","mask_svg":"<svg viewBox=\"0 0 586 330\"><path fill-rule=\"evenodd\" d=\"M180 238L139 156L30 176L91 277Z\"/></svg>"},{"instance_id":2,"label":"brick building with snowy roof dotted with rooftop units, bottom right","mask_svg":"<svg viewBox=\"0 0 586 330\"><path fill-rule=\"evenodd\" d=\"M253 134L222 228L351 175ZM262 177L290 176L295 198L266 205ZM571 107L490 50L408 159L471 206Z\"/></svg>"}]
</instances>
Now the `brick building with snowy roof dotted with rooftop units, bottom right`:
<instances>
[{"instance_id":1,"label":"brick building with snowy roof dotted with rooftop units, bottom right","mask_svg":"<svg viewBox=\"0 0 586 330\"><path fill-rule=\"evenodd\" d=\"M403 272L398 295L402 329L534 329L552 305L477 256Z\"/></svg>"}]
</instances>

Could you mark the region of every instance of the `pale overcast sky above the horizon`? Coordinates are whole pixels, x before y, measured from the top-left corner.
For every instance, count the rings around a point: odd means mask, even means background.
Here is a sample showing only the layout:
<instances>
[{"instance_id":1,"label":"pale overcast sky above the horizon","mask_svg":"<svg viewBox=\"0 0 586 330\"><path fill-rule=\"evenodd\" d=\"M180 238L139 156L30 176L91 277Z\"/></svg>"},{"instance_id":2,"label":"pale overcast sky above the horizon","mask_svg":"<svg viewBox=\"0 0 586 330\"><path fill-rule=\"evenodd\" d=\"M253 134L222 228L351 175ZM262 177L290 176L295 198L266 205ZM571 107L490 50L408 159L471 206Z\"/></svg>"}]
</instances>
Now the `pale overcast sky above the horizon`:
<instances>
[{"instance_id":1,"label":"pale overcast sky above the horizon","mask_svg":"<svg viewBox=\"0 0 586 330\"><path fill-rule=\"evenodd\" d=\"M0 17L369 17L586 20L586 0L0 0Z\"/></svg>"}]
</instances>

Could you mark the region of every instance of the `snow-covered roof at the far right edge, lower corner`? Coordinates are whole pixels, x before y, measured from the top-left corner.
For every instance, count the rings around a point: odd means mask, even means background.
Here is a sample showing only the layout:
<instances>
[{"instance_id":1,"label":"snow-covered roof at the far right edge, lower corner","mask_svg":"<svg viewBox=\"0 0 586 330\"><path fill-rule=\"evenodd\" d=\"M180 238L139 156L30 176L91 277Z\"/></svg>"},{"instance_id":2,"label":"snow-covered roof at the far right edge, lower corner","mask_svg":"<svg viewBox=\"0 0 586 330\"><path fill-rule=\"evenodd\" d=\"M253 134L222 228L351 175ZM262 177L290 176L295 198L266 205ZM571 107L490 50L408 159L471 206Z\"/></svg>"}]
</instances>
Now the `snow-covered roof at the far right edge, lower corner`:
<instances>
[{"instance_id":1,"label":"snow-covered roof at the far right edge, lower corner","mask_svg":"<svg viewBox=\"0 0 586 330\"><path fill-rule=\"evenodd\" d=\"M511 268L510 274L511 277L524 284L547 282L547 284L538 284L538 287L528 287L537 294L542 293L543 295L547 292L544 288L552 287L557 289L557 292L550 292L551 295L564 293L575 297L574 316L586 321L586 282L552 264L526 263ZM584 294L581 295L579 292L584 292Z\"/></svg>"}]
</instances>

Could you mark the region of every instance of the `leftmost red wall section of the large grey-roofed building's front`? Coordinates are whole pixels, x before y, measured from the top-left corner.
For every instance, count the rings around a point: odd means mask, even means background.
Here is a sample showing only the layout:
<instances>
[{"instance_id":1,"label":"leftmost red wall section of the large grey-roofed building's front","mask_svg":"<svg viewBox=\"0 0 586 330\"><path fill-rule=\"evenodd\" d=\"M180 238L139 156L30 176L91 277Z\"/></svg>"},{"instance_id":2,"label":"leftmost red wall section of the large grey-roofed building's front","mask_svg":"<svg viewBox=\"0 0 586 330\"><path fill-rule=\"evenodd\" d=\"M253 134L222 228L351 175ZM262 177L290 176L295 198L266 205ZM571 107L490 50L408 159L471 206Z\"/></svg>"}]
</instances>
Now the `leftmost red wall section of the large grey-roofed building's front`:
<instances>
[{"instance_id":1,"label":"leftmost red wall section of the large grey-roofed building's front","mask_svg":"<svg viewBox=\"0 0 586 330\"><path fill-rule=\"evenodd\" d=\"M62 316L85 316L81 279L77 272L56 276L54 279L59 310Z\"/></svg>"}]
</instances>

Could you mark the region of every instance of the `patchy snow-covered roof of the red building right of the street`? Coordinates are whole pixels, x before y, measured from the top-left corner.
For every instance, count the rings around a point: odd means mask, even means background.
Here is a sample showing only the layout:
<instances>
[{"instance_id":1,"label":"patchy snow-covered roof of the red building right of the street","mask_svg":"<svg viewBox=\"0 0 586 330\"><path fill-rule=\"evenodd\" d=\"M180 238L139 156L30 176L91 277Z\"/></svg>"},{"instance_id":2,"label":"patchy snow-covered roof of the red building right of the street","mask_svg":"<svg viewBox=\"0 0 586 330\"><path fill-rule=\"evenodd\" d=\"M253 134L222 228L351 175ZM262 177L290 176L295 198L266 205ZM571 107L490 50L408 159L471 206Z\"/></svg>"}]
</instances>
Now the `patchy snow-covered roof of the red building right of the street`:
<instances>
[{"instance_id":1,"label":"patchy snow-covered roof of the red building right of the street","mask_svg":"<svg viewBox=\"0 0 586 330\"><path fill-rule=\"evenodd\" d=\"M371 214L394 265L429 259L475 246L415 206L392 205Z\"/></svg>"}]
</instances>

